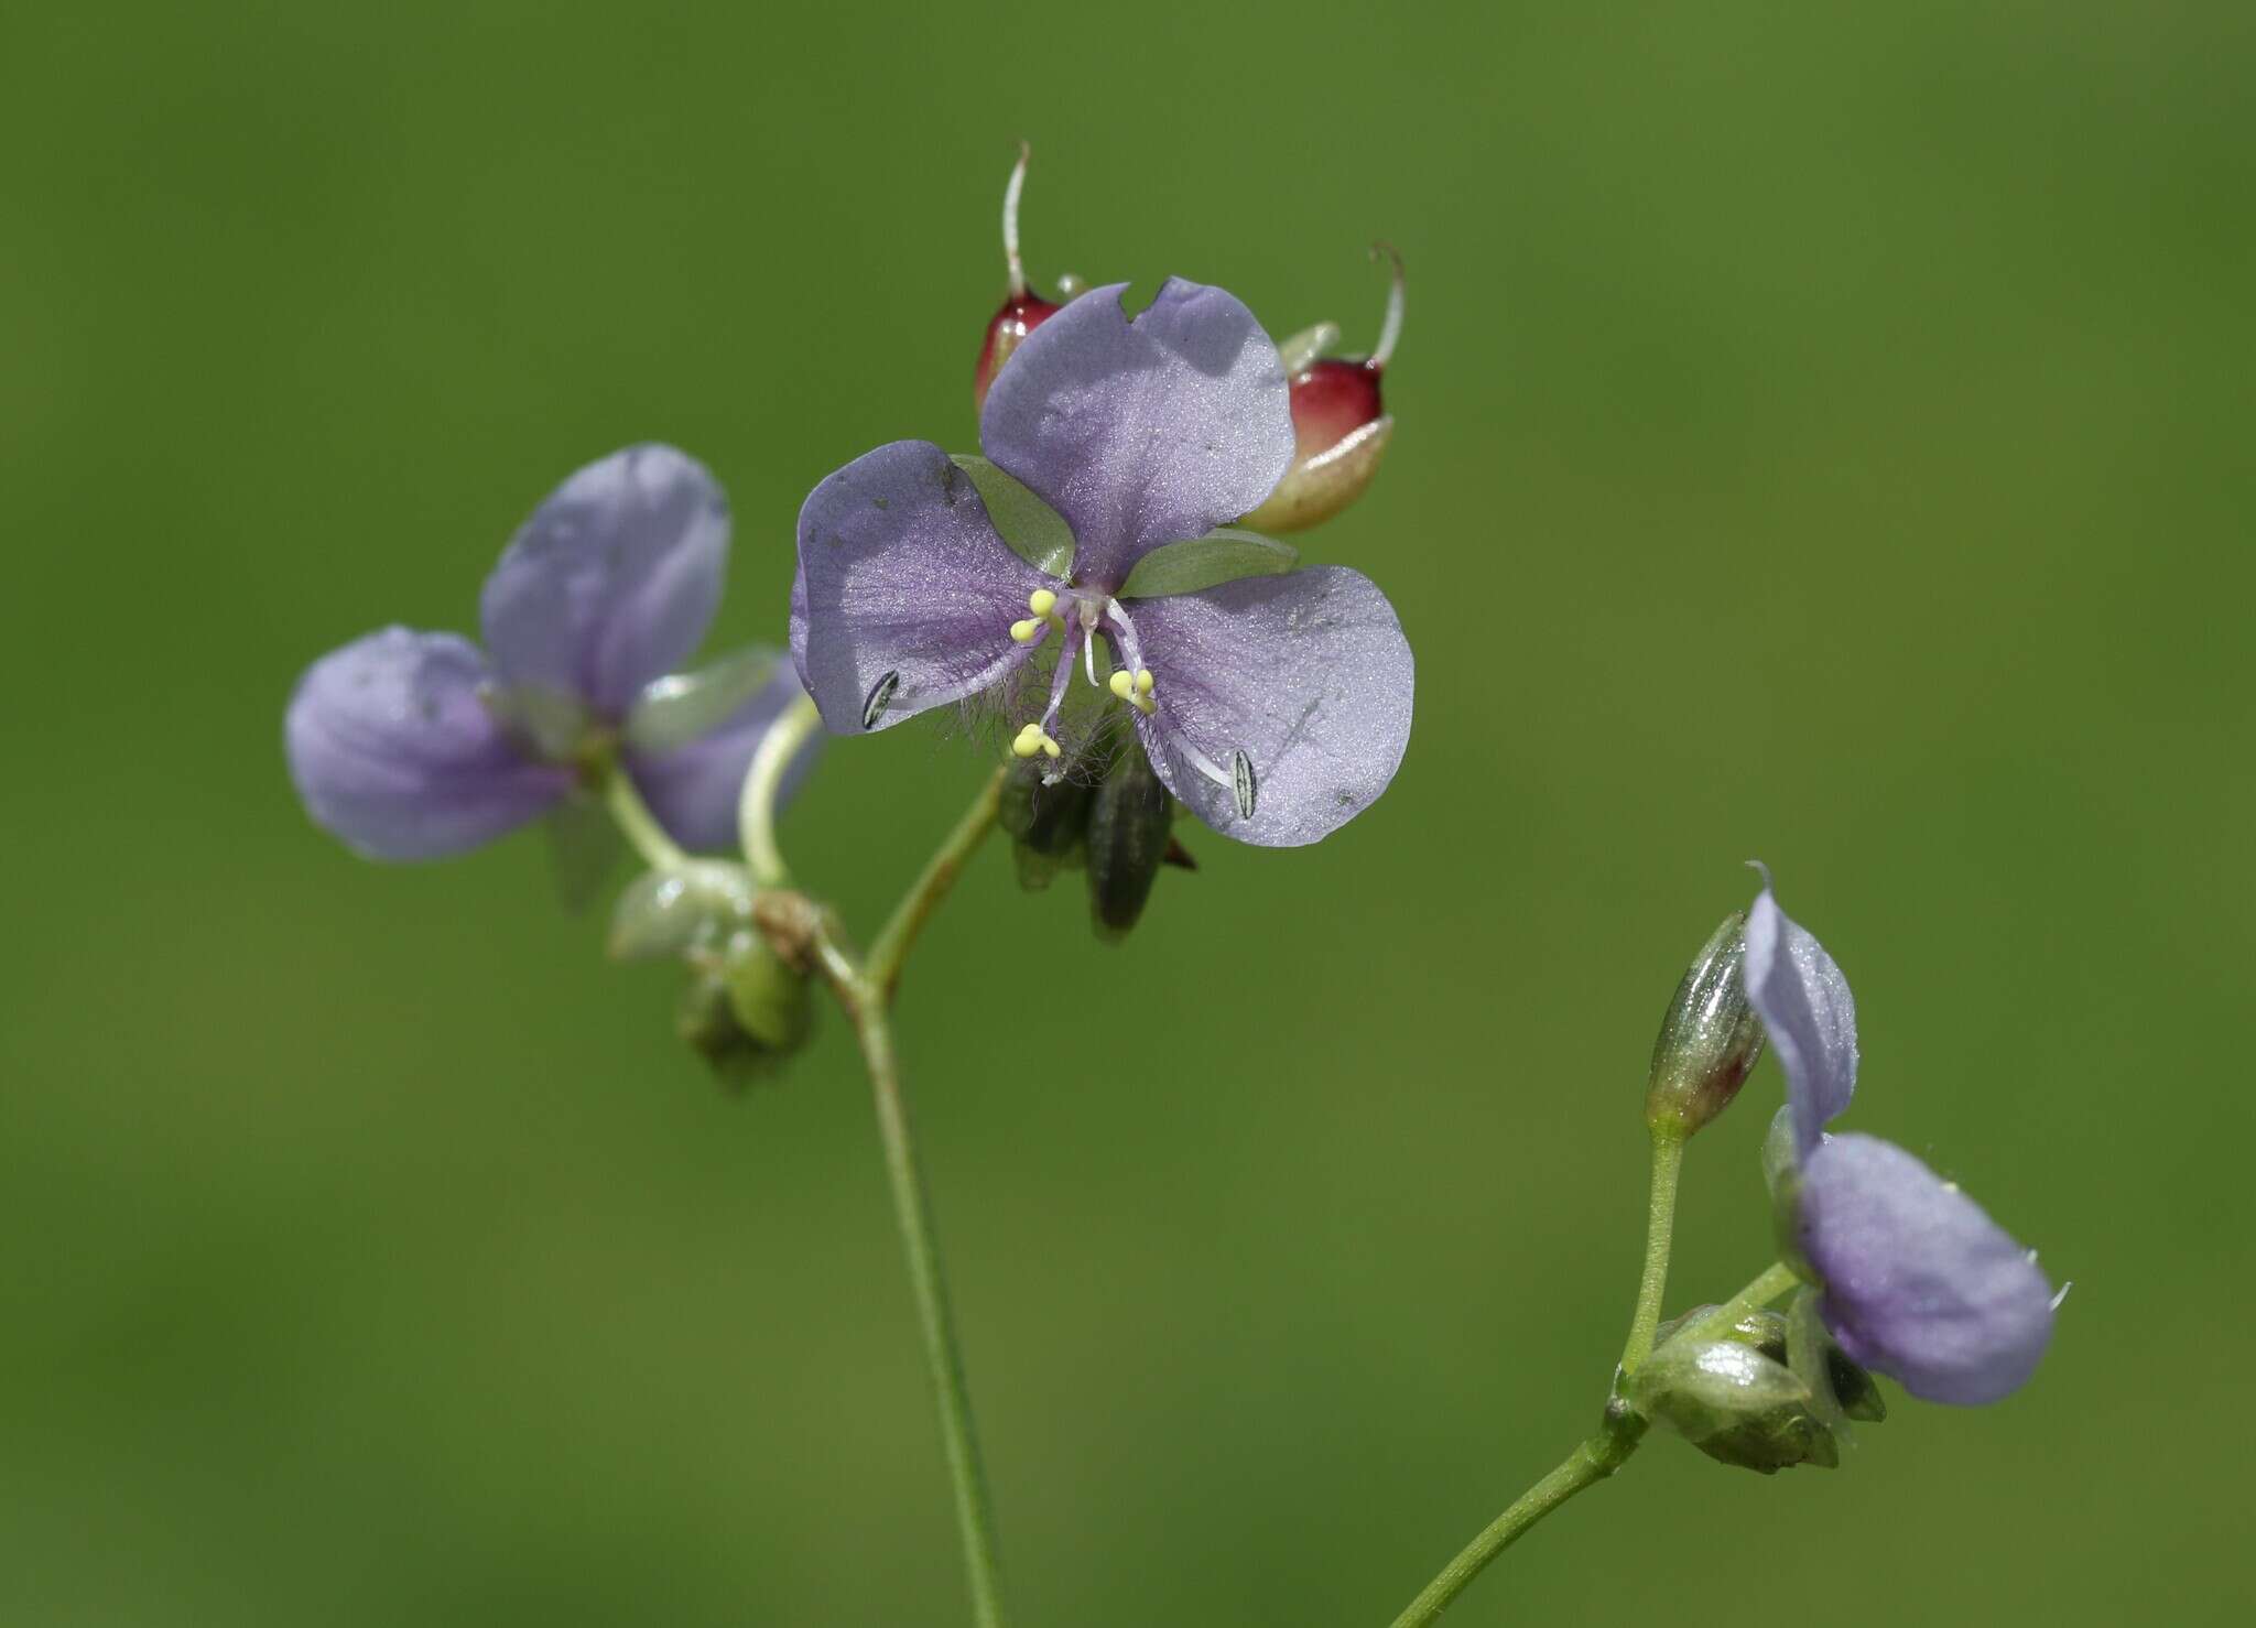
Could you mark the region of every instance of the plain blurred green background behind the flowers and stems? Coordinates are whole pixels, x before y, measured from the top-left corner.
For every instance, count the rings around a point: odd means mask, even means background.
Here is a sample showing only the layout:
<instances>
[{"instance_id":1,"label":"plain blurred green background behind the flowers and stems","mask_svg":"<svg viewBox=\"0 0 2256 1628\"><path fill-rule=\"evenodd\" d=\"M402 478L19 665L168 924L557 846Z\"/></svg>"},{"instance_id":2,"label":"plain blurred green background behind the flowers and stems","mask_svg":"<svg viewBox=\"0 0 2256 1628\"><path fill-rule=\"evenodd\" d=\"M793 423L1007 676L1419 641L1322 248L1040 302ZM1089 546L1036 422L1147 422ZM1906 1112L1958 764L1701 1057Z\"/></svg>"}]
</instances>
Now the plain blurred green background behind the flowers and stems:
<instances>
[{"instance_id":1,"label":"plain blurred green background behind the flowers and stems","mask_svg":"<svg viewBox=\"0 0 2256 1628\"><path fill-rule=\"evenodd\" d=\"M377 868L280 713L663 437L970 446L1026 246L1369 343L1308 555L1394 789L1126 949L984 855L900 1026L1020 1623L1383 1623L1588 1425L1683 961L1769 859L1854 1123L2078 1281L1841 1472L1656 1439L1451 1621L2247 1621L2245 5L29 7L0 20L9 1623L961 1623L869 1094L726 1100L537 841ZM864 931L981 764L839 744ZM1766 1260L1771 1064L1672 1301Z\"/></svg>"}]
</instances>

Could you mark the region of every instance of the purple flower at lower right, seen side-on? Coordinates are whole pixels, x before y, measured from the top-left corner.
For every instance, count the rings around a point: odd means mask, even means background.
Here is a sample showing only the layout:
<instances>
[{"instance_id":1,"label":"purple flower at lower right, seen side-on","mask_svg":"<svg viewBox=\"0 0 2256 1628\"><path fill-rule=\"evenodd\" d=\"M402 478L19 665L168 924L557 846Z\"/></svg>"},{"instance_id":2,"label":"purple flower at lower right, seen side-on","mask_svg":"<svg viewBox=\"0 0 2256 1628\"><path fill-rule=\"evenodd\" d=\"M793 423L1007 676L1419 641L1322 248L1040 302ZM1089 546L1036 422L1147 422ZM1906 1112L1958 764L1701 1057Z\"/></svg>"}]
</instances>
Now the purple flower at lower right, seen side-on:
<instances>
[{"instance_id":1,"label":"purple flower at lower right, seen side-on","mask_svg":"<svg viewBox=\"0 0 2256 1628\"><path fill-rule=\"evenodd\" d=\"M1764 875L1746 994L1787 1071L1794 1238L1841 1348L1931 1403L1994 1403L2053 1337L2051 1283L1981 1204L1877 1136L1827 1136L1857 1089L1857 1003Z\"/></svg>"}]
</instances>

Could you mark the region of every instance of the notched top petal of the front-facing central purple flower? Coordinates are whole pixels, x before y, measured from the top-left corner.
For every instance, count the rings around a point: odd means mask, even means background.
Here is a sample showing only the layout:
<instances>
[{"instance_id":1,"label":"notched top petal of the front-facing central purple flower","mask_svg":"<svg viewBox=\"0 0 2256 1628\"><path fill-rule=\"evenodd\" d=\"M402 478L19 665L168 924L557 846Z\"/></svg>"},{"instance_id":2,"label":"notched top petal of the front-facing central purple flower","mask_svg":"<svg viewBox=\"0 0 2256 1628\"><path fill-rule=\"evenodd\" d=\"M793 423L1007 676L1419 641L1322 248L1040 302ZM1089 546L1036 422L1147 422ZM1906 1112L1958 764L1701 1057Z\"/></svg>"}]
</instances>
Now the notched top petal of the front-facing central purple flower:
<instances>
[{"instance_id":1,"label":"notched top petal of the front-facing central purple flower","mask_svg":"<svg viewBox=\"0 0 2256 1628\"><path fill-rule=\"evenodd\" d=\"M979 415L986 455L1065 516L1074 582L1103 593L1160 543L1261 507L1293 467L1293 399L1254 313L1173 277L1130 322L1123 286L1029 334Z\"/></svg>"}]
</instances>

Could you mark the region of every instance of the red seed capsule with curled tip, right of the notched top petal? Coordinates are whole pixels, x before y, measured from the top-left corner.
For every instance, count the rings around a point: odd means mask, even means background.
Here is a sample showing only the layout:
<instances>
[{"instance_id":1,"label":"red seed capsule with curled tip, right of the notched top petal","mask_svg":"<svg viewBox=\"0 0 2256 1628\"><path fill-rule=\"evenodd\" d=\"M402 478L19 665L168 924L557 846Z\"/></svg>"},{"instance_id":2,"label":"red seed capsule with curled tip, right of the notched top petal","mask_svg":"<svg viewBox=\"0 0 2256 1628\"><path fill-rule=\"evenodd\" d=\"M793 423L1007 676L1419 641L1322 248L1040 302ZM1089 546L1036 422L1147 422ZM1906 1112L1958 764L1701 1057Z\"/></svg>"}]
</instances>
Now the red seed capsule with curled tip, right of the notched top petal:
<instances>
[{"instance_id":1,"label":"red seed capsule with curled tip, right of the notched top petal","mask_svg":"<svg viewBox=\"0 0 2256 1628\"><path fill-rule=\"evenodd\" d=\"M1277 347L1293 381L1293 467L1259 510L1245 516L1257 532L1302 532L1345 510L1378 474L1394 419L1378 397L1378 377L1394 356L1403 331L1403 259L1385 244L1372 246L1372 257L1385 255L1394 266L1387 293L1387 316L1378 329L1378 350L1369 356L1318 356L1338 340L1340 329L1320 322Z\"/></svg>"}]
</instances>

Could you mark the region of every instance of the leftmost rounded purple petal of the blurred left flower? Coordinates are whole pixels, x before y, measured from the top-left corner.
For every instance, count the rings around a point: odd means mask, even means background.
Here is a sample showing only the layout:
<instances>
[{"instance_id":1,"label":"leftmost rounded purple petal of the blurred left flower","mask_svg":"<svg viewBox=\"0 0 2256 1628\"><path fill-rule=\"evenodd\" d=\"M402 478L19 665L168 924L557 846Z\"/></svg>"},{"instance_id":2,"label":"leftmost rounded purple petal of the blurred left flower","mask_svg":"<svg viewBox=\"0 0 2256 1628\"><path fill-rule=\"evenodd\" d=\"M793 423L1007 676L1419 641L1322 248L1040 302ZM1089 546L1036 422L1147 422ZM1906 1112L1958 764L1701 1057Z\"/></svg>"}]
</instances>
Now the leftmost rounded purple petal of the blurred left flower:
<instances>
[{"instance_id":1,"label":"leftmost rounded purple petal of the blurred left flower","mask_svg":"<svg viewBox=\"0 0 2256 1628\"><path fill-rule=\"evenodd\" d=\"M282 746L314 823L370 859L440 859L555 805L571 771L528 758L478 699L485 656L456 634L381 634L298 681Z\"/></svg>"}]
</instances>

